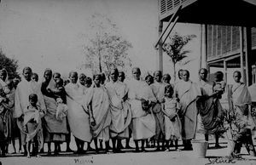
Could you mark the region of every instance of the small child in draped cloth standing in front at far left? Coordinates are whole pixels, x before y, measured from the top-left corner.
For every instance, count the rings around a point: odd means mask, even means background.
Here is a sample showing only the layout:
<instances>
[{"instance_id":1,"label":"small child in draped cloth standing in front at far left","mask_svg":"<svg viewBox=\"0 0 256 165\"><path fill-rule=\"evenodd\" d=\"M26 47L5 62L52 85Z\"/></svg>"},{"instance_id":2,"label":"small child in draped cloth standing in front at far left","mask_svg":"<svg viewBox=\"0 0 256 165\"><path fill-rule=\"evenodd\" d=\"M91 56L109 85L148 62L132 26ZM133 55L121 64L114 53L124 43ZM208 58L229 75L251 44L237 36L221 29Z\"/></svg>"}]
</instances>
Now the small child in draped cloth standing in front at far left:
<instances>
[{"instance_id":1,"label":"small child in draped cloth standing in front at far left","mask_svg":"<svg viewBox=\"0 0 256 165\"><path fill-rule=\"evenodd\" d=\"M26 151L27 157L30 158L30 145L34 145L35 156L38 155L38 148L44 145L43 129L41 118L44 117L44 111L41 110L38 103L38 95L29 95L29 105L24 110L24 132L26 132Z\"/></svg>"}]
</instances>

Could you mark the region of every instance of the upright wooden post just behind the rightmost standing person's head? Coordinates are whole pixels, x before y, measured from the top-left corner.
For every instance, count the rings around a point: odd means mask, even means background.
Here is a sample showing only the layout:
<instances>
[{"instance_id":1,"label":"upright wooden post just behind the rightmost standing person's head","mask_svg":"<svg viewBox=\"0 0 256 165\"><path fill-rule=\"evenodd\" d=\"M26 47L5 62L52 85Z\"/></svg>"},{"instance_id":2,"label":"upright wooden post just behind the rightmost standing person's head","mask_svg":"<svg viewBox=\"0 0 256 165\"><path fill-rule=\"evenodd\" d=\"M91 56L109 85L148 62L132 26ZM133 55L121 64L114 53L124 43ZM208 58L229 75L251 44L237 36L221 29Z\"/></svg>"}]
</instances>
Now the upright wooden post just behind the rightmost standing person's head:
<instances>
[{"instance_id":1,"label":"upright wooden post just behind the rightmost standing person's head","mask_svg":"<svg viewBox=\"0 0 256 165\"><path fill-rule=\"evenodd\" d=\"M241 69L241 82L243 83L247 83L247 79L246 79L246 75L245 75L245 71L244 71L244 65L243 65L243 61L244 61L244 57L243 57L243 49L244 49L244 45L243 45L243 27L239 27L239 31L240 31L240 69Z\"/></svg>"}]
</instances>

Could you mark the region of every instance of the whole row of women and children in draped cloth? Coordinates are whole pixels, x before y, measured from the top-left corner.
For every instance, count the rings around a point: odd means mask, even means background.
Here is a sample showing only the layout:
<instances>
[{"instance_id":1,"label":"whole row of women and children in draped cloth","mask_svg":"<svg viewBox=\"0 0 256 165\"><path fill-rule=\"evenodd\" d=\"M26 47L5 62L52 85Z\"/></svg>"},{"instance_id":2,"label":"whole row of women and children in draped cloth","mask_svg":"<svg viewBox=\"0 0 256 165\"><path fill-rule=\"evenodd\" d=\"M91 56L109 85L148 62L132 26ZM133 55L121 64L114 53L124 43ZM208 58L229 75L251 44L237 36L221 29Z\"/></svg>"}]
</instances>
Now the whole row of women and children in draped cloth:
<instances>
[{"instance_id":1,"label":"whole row of women and children in draped cloth","mask_svg":"<svg viewBox=\"0 0 256 165\"><path fill-rule=\"evenodd\" d=\"M189 79L189 71L178 71L179 80L171 84L171 76L154 71L145 80L141 71L132 69L132 78L125 80L125 73L112 69L109 81L102 73L86 77L76 71L69 73L69 81L50 69L44 71L43 83L30 67L23 69L20 83L9 80L6 70L0 71L0 149L5 156L12 142L20 139L19 151L23 145L24 155L39 156L48 145L55 144L54 154L61 151L61 143L70 149L73 134L77 151L123 152L135 143L135 152L146 151L154 145L156 151L170 151L178 148L178 139L183 140L183 150L193 150L191 139L196 133L224 133L223 108L219 100L224 94L223 73L214 74L214 82L207 81L207 69L199 71L199 82ZM239 111L241 120L247 120L248 105L251 104L247 87L240 82L241 72L234 72L236 84L230 88L234 111ZM245 131L250 134L250 130ZM242 133L241 133L242 134ZM110 147L109 141L112 141ZM122 140L125 139L125 146ZM241 140L242 141L242 140ZM94 142L94 149L90 146ZM243 141L244 142L244 141ZM249 150L252 139L247 140ZM31 149L32 145L32 149ZM140 146L139 146L140 145ZM239 152L241 143L236 146ZM31 152L32 151L32 152Z\"/></svg>"}]
</instances>

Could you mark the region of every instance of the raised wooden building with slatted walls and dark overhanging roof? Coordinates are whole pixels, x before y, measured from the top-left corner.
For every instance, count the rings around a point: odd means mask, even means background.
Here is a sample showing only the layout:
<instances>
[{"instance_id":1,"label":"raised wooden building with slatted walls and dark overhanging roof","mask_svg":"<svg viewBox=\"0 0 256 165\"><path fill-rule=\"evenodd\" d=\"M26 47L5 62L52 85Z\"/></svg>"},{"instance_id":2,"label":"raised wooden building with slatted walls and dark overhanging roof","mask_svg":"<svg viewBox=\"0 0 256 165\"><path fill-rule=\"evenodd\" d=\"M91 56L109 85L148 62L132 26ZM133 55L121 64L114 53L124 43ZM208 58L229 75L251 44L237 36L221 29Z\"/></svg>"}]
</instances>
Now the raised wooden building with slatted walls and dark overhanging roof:
<instances>
[{"instance_id":1,"label":"raised wooden building with slatted walls and dark overhanging roof","mask_svg":"<svg viewBox=\"0 0 256 165\"><path fill-rule=\"evenodd\" d=\"M201 66L220 68L225 80L230 68L240 70L247 85L256 75L256 0L159 0L159 69L165 36L176 22L201 24ZM163 23L168 22L166 29Z\"/></svg>"}]
</instances>

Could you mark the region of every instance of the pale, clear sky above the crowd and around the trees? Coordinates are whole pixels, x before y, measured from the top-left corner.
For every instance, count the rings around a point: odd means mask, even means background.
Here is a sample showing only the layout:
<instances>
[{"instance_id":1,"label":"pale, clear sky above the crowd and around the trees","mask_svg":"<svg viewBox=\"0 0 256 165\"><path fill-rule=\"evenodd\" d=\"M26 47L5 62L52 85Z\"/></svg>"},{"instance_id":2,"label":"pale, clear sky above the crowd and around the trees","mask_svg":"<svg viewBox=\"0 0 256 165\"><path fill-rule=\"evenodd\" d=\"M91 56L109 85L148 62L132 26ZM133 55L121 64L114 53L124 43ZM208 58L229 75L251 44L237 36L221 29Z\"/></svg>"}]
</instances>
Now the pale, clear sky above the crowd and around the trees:
<instances>
[{"instance_id":1,"label":"pale, clear sky above the crowd and around the trees","mask_svg":"<svg viewBox=\"0 0 256 165\"><path fill-rule=\"evenodd\" d=\"M45 68L67 75L83 64L83 46L91 37L93 14L109 18L119 34L132 44L129 55L134 66L144 72L157 70L158 52L154 43L158 39L158 4L155 0L2 0L0 48L10 58L19 60L19 71L28 65L39 77ZM183 66L194 71L191 79L197 78L200 28L200 25L177 24L173 29L182 35L197 36L186 47L194 60ZM164 72L172 73L165 54Z\"/></svg>"}]
</instances>

